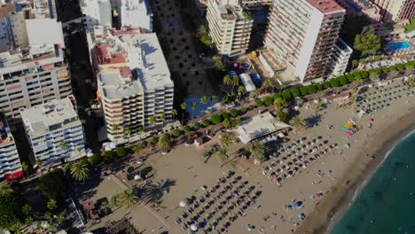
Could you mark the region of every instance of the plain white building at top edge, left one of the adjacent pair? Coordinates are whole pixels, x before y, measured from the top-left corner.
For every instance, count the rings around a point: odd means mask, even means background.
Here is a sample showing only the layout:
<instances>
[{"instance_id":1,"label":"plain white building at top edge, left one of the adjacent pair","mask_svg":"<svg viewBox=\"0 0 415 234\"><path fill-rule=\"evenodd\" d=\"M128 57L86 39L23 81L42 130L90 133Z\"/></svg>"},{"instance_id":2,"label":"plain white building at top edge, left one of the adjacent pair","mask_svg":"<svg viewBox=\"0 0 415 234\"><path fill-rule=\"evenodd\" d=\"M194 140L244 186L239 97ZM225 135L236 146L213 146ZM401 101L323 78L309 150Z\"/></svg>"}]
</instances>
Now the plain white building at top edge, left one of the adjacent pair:
<instances>
[{"instance_id":1,"label":"plain white building at top edge, left one of the adjacent pair","mask_svg":"<svg viewBox=\"0 0 415 234\"><path fill-rule=\"evenodd\" d=\"M86 28L102 25L113 27L113 14L110 0L80 0Z\"/></svg>"}]
</instances>

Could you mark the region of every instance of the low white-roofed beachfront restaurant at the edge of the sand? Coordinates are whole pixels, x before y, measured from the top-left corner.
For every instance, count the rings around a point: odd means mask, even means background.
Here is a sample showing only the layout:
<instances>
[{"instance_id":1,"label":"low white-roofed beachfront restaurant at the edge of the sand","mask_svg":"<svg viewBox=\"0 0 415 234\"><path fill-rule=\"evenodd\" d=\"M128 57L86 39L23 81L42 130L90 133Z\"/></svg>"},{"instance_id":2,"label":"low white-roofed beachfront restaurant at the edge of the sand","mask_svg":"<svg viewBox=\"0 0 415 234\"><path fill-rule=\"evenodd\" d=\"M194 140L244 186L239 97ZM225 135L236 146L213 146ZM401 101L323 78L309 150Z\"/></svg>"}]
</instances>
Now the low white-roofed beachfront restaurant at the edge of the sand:
<instances>
[{"instance_id":1,"label":"low white-roofed beachfront restaurant at the edge of the sand","mask_svg":"<svg viewBox=\"0 0 415 234\"><path fill-rule=\"evenodd\" d=\"M240 141L247 144L254 139L286 128L290 128L290 126L282 121L277 121L270 113L262 113L242 121L237 133Z\"/></svg>"}]
</instances>

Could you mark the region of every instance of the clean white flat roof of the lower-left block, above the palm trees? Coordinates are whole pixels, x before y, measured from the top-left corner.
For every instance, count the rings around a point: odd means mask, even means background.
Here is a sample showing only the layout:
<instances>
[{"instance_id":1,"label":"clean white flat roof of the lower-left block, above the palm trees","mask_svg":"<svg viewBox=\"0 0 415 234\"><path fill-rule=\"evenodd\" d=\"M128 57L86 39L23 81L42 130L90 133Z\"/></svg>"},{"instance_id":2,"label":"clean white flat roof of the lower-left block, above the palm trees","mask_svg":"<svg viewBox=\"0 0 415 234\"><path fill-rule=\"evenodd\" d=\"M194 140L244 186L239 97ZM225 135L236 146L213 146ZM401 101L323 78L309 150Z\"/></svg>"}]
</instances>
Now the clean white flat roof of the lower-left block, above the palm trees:
<instances>
[{"instance_id":1,"label":"clean white flat roof of the lower-left block, above the palm trees","mask_svg":"<svg viewBox=\"0 0 415 234\"><path fill-rule=\"evenodd\" d=\"M69 98L52 99L42 105L35 105L20 111L20 114L32 136L42 136L53 126L63 127L74 120L79 121L78 114Z\"/></svg>"}]
</instances>

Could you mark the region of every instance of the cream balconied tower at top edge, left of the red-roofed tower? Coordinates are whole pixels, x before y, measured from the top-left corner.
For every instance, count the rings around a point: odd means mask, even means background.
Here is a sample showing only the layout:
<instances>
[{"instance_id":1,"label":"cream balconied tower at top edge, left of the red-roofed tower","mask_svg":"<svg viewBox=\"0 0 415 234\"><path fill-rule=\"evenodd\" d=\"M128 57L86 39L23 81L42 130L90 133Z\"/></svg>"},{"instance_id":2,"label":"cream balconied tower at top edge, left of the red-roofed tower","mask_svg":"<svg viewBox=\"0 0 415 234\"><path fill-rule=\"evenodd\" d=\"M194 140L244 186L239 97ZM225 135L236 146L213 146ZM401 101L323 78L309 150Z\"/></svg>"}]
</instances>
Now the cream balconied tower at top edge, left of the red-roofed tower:
<instances>
[{"instance_id":1,"label":"cream balconied tower at top edge, left of the red-roofed tower","mask_svg":"<svg viewBox=\"0 0 415 234\"><path fill-rule=\"evenodd\" d=\"M233 57L244 54L249 46L254 20L237 0L208 0L209 35L219 54Z\"/></svg>"}]
</instances>

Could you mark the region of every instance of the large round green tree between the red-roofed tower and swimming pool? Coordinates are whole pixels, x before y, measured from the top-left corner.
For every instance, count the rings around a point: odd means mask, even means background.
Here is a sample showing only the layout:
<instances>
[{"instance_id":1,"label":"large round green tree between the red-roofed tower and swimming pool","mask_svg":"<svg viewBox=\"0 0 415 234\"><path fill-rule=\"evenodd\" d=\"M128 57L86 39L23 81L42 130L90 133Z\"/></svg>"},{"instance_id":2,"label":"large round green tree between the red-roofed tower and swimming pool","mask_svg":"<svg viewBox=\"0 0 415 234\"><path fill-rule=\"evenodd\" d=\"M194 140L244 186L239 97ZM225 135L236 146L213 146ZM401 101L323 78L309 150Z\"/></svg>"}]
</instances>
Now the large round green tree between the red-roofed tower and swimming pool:
<instances>
[{"instance_id":1,"label":"large round green tree between the red-roofed tower and swimming pool","mask_svg":"<svg viewBox=\"0 0 415 234\"><path fill-rule=\"evenodd\" d=\"M379 35L374 32L374 27L364 27L361 34L356 35L354 49L362 52L362 56L374 54L382 47Z\"/></svg>"}]
</instances>

